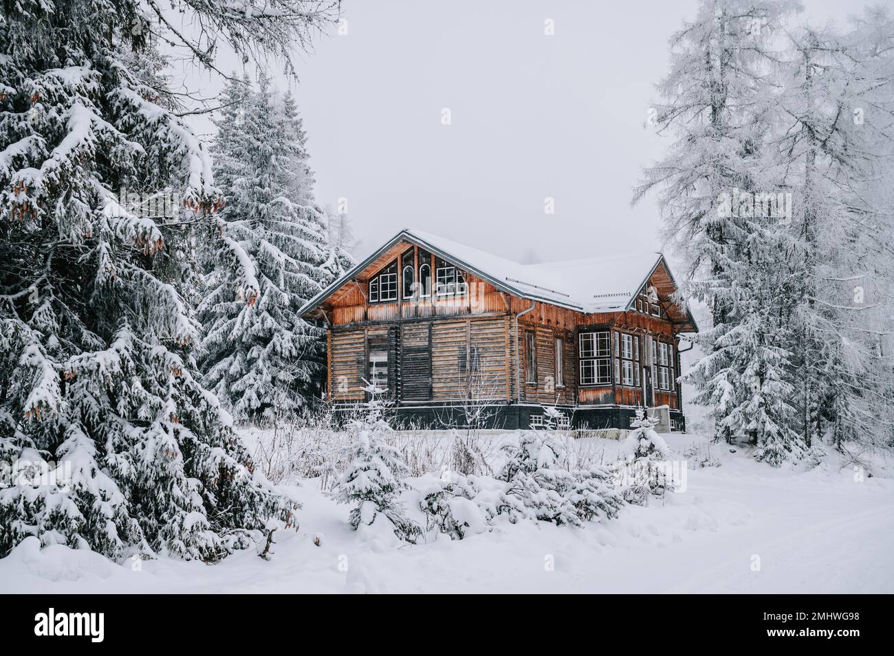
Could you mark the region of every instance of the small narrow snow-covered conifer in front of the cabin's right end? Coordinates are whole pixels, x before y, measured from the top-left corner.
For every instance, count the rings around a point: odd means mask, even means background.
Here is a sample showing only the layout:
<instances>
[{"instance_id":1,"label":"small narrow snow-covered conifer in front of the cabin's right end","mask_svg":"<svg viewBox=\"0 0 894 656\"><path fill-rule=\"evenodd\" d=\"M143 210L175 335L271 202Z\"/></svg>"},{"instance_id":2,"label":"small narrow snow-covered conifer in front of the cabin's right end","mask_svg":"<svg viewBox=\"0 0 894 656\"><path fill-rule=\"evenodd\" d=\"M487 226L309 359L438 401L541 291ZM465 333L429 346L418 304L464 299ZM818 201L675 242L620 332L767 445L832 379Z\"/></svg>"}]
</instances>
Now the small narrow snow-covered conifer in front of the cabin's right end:
<instances>
[{"instance_id":1,"label":"small narrow snow-covered conifer in front of the cabin's right end","mask_svg":"<svg viewBox=\"0 0 894 656\"><path fill-rule=\"evenodd\" d=\"M624 500L628 503L645 505L649 494L664 494L672 489L667 472L671 452L654 430L657 423L658 419L646 416L642 408L637 410L637 419L630 422L634 430L622 448L626 461L619 463L626 484Z\"/></svg>"}]
</instances>

